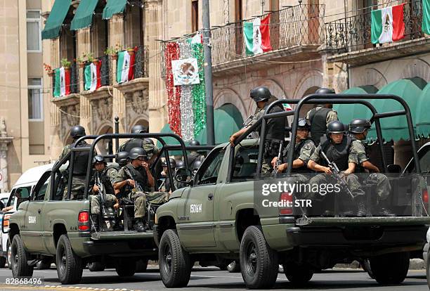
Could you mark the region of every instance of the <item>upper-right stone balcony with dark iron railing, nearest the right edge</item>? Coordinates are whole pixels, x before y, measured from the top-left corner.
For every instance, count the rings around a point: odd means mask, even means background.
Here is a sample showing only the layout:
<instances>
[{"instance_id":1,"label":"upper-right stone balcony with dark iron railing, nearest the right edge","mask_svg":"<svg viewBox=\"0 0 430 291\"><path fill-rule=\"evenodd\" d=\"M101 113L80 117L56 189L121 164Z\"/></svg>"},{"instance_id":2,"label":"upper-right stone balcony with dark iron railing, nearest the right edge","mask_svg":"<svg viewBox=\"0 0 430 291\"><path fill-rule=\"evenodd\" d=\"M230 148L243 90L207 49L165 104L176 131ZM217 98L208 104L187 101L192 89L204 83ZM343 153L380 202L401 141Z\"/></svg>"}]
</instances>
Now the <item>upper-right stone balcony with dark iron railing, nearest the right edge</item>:
<instances>
[{"instance_id":1,"label":"upper-right stone balcony with dark iron railing, nearest the right edge","mask_svg":"<svg viewBox=\"0 0 430 291\"><path fill-rule=\"evenodd\" d=\"M372 7L356 11L356 15L325 24L325 50L331 53L329 62L364 65L400 56L429 51L430 42L424 38L422 1L411 0L403 9L405 38L389 44L372 44Z\"/></svg>"}]
</instances>

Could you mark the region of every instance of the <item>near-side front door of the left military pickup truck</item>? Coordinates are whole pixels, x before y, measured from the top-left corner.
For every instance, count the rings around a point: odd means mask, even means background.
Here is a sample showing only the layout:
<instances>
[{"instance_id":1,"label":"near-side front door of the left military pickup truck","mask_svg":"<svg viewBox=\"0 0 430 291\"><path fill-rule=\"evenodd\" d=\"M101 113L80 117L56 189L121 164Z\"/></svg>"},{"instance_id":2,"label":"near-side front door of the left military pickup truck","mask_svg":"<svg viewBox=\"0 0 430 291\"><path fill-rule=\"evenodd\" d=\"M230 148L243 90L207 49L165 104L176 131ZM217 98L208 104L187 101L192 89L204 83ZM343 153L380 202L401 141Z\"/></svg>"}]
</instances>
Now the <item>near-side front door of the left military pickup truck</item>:
<instances>
[{"instance_id":1,"label":"near-side front door of the left military pickup truck","mask_svg":"<svg viewBox=\"0 0 430 291\"><path fill-rule=\"evenodd\" d=\"M46 172L41 179L34 186L30 195L30 201L24 205L25 216L22 221L22 240L31 252L42 252L44 250L44 243L42 238L41 226L41 210L44 205L44 198L46 187L48 186L50 172ZM21 195L21 197L23 197ZM27 196L28 197L28 196Z\"/></svg>"}]
</instances>

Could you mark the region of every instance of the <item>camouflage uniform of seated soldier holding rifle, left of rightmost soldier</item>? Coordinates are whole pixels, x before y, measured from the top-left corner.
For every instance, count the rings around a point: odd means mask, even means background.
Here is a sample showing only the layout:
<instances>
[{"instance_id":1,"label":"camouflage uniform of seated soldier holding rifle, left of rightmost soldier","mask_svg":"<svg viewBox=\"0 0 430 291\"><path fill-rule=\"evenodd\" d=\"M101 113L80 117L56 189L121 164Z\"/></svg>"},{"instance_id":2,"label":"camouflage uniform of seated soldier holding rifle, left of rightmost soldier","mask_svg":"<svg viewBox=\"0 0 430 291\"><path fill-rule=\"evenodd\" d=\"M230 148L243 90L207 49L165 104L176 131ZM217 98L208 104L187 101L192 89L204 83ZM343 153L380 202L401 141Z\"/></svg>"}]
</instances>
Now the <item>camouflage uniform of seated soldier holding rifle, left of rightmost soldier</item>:
<instances>
[{"instance_id":1,"label":"camouflage uniform of seated soldier holding rifle, left of rightmost soldier","mask_svg":"<svg viewBox=\"0 0 430 291\"><path fill-rule=\"evenodd\" d=\"M320 157L320 151L321 151L321 145L318 145L318 147L315 149L313 154L311 155L311 158L309 160L313 160L314 162L318 163L320 160L322 160L322 157ZM354 153L356 151L356 145L351 144L351 147L349 148L348 153L348 163L349 162L355 162ZM313 185L317 184L328 184L328 183L335 183L334 179L325 173L317 174L316 176L313 176L311 180L309 180L309 184L311 185L311 188L313 189ZM349 174L346 176L346 185L348 186L349 190L351 190L351 193L353 193L354 197L358 195L364 195L364 191L361 188L360 181L358 180L358 176L355 174ZM316 188L316 187L315 187ZM309 198L316 199L316 200L322 200L321 195L319 195L318 192L311 192L308 193ZM318 199L318 196L320 196L320 199Z\"/></svg>"}]
</instances>

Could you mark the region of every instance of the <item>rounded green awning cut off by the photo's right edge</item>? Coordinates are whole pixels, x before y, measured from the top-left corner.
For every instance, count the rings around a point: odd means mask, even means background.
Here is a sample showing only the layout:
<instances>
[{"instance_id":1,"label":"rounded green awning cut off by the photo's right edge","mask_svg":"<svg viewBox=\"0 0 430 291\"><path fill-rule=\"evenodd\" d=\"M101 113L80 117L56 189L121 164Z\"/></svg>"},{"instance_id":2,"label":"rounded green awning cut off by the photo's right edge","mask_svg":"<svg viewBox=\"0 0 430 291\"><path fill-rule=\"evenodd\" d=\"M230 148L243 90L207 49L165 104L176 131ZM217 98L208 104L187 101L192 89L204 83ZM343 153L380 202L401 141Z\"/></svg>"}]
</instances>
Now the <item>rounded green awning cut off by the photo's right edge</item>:
<instances>
[{"instance_id":1,"label":"rounded green awning cut off by the photo's right edge","mask_svg":"<svg viewBox=\"0 0 430 291\"><path fill-rule=\"evenodd\" d=\"M430 136L430 84L424 87L419 96L415 124L417 126L416 136L423 136L424 138Z\"/></svg>"}]
</instances>

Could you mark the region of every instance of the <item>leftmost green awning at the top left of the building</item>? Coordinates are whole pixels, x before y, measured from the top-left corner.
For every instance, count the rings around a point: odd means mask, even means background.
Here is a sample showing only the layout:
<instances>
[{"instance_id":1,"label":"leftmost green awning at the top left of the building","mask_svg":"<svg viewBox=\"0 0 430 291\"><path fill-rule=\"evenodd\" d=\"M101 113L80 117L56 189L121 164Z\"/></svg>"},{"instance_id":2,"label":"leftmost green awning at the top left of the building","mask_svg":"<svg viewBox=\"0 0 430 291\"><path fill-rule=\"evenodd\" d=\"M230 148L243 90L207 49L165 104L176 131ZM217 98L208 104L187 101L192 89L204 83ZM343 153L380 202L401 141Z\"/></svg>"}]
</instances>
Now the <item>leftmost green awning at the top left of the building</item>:
<instances>
[{"instance_id":1,"label":"leftmost green awning at the top left of the building","mask_svg":"<svg viewBox=\"0 0 430 291\"><path fill-rule=\"evenodd\" d=\"M69 11L70 3L72 0L56 0L41 32L42 39L55 39L60 36L61 25Z\"/></svg>"}]
</instances>

